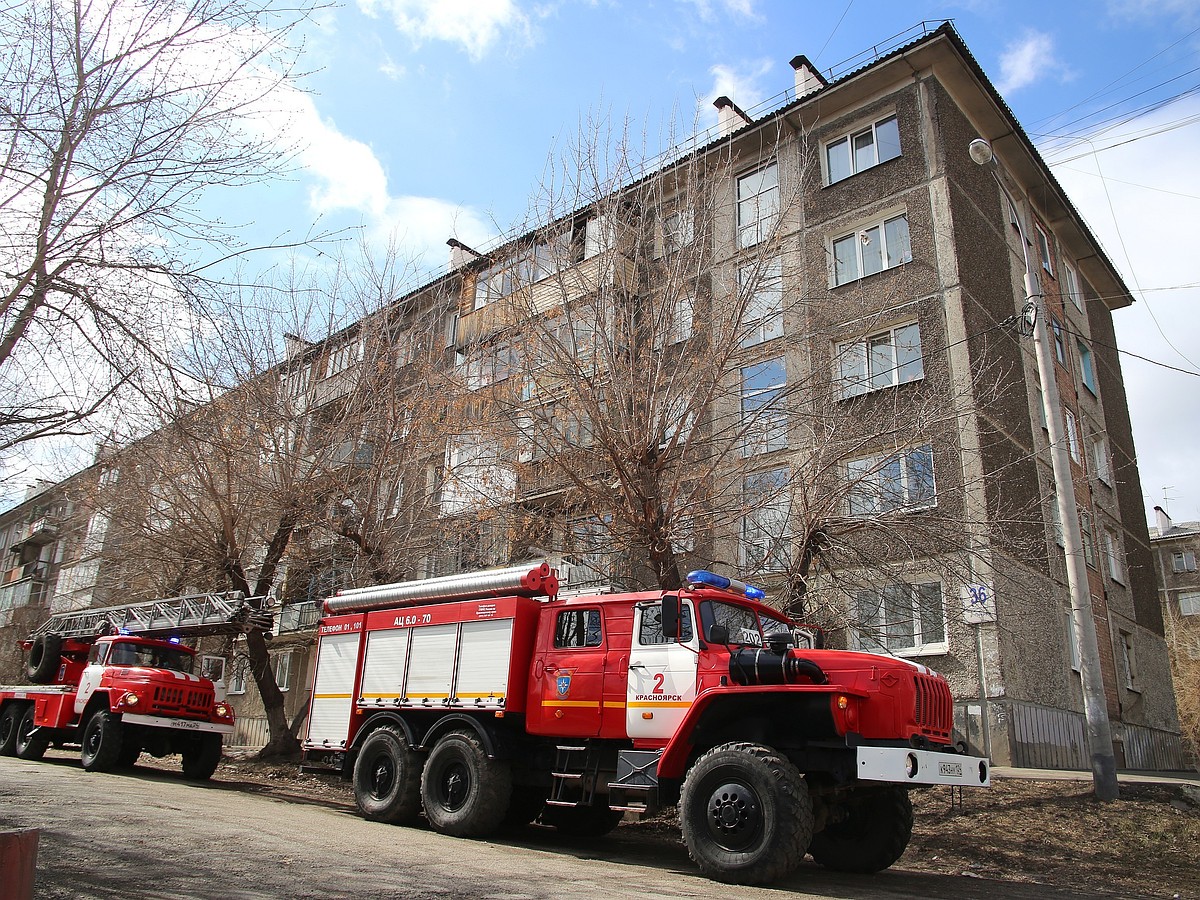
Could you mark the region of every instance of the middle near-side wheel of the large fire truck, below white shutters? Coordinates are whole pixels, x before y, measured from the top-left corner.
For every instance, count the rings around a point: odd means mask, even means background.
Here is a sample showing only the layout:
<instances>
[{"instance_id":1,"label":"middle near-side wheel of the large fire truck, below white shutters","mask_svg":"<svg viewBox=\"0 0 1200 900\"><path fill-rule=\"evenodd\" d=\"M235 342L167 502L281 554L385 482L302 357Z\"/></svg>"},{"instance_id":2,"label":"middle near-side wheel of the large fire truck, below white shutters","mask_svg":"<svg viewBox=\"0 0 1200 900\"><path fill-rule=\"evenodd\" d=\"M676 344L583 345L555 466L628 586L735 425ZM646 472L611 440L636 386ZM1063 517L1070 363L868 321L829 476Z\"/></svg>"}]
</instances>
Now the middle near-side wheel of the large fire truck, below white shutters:
<instances>
[{"instance_id":1,"label":"middle near-side wheel of the large fire truck, below white shutters","mask_svg":"<svg viewBox=\"0 0 1200 900\"><path fill-rule=\"evenodd\" d=\"M421 802L433 830L457 838L496 832L512 797L512 769L491 760L473 732L442 738L421 774Z\"/></svg>"}]
</instances>

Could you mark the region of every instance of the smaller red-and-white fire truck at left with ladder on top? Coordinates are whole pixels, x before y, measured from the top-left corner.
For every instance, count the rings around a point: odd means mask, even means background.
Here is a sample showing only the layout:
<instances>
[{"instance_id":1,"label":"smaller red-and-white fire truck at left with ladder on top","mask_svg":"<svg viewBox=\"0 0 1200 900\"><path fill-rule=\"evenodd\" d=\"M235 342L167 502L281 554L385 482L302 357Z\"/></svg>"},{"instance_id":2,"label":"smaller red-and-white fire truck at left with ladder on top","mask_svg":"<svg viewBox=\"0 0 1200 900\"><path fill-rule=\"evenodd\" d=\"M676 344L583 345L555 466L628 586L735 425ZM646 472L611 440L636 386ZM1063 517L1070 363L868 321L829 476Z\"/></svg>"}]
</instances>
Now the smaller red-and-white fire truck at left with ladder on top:
<instances>
[{"instance_id":1,"label":"smaller red-and-white fire truck at left with ladder on top","mask_svg":"<svg viewBox=\"0 0 1200 900\"><path fill-rule=\"evenodd\" d=\"M269 628L270 614L236 592L52 616L22 642L37 686L0 686L0 755L40 760L52 744L78 745L85 769L106 772L143 752L180 754L187 778L210 778L234 714L179 641L247 626Z\"/></svg>"}]
</instances>

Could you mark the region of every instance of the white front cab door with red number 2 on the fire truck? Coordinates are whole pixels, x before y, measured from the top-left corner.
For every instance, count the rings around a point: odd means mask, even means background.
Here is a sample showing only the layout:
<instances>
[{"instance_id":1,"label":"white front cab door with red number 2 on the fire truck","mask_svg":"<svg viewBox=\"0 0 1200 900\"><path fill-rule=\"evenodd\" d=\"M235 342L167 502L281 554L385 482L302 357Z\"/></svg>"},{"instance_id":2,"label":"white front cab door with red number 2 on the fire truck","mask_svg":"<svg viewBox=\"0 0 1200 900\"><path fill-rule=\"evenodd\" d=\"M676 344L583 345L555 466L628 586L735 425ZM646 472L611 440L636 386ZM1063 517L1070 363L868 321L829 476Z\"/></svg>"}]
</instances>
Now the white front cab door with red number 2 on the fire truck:
<instances>
[{"instance_id":1,"label":"white front cab door with red number 2 on the fire truck","mask_svg":"<svg viewBox=\"0 0 1200 900\"><path fill-rule=\"evenodd\" d=\"M694 622L691 602L683 600L676 640L662 634L661 604L636 607L625 700L629 737L666 740L696 700L700 640Z\"/></svg>"}]
</instances>

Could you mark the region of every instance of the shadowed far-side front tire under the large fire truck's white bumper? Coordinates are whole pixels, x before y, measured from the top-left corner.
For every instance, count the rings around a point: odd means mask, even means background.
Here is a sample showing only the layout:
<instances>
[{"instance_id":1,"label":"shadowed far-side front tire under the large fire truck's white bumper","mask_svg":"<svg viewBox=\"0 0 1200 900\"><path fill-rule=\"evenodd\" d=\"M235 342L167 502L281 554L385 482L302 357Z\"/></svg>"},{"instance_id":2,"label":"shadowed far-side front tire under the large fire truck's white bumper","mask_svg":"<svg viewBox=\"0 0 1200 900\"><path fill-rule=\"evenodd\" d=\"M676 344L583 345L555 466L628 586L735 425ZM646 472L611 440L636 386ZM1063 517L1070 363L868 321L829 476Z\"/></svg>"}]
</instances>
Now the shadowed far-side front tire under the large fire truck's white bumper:
<instances>
[{"instance_id":1,"label":"shadowed far-side front tire under the large fire truck's white bumper","mask_svg":"<svg viewBox=\"0 0 1200 900\"><path fill-rule=\"evenodd\" d=\"M877 872L898 860L912 838L912 802L904 787L878 787L829 810L809 853L826 869Z\"/></svg>"}]
</instances>

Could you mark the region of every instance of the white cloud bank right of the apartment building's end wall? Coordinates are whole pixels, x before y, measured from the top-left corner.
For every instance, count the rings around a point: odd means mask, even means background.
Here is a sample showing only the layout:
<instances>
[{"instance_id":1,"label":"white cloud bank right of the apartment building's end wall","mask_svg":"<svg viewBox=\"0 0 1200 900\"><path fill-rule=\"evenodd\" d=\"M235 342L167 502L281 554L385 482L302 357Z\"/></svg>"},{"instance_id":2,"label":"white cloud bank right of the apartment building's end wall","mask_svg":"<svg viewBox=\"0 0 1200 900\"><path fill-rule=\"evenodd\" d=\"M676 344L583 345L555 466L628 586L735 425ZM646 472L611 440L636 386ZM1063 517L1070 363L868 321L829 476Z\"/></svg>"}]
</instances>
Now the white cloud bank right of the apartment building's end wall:
<instances>
[{"instance_id":1,"label":"white cloud bank right of the apartment building's end wall","mask_svg":"<svg viewBox=\"0 0 1200 900\"><path fill-rule=\"evenodd\" d=\"M1154 131L1154 126L1198 114L1200 101L1178 101L1129 122L1123 131ZM1117 134L1093 137L1102 148L1121 139ZM1055 168L1134 293L1133 306L1112 314L1121 349L1192 371L1193 362L1200 364L1200 317L1195 314L1200 288L1181 286L1200 281L1193 229L1183 224L1194 222L1200 211L1194 146L1192 126ZM1139 287L1145 293L1139 294ZM1163 488L1170 487L1176 498L1170 505L1172 517L1200 520L1200 469L1195 464L1200 378L1129 355L1122 355L1121 366L1147 509L1162 504Z\"/></svg>"}]
</instances>

